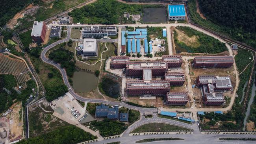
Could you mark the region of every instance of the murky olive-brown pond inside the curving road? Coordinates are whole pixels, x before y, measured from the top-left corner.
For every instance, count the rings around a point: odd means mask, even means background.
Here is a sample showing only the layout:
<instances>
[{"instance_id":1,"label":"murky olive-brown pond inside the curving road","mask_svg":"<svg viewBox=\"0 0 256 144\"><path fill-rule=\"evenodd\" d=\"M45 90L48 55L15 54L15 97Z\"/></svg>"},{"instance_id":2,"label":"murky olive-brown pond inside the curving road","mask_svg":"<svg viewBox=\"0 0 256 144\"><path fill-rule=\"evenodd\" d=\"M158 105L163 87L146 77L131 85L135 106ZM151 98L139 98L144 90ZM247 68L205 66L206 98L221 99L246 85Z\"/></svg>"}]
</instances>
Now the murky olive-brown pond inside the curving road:
<instances>
[{"instance_id":1,"label":"murky olive-brown pond inside the curving road","mask_svg":"<svg viewBox=\"0 0 256 144\"><path fill-rule=\"evenodd\" d=\"M89 92L96 89L98 78L95 74L88 72L76 71L72 78L73 89L75 92Z\"/></svg>"}]
</instances>

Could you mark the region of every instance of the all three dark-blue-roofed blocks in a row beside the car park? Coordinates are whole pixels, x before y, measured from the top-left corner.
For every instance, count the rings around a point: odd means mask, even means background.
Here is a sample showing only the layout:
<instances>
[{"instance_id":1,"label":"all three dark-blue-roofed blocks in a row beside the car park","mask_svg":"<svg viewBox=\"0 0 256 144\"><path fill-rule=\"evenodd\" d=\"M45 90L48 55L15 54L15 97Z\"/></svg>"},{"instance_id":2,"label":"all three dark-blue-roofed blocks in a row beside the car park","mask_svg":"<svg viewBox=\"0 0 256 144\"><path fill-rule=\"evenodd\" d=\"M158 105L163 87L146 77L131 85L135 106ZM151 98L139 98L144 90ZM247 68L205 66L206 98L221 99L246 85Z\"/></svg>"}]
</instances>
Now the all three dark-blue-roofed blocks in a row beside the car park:
<instances>
[{"instance_id":1,"label":"all three dark-blue-roofed blocks in a row beside the car park","mask_svg":"<svg viewBox=\"0 0 256 144\"><path fill-rule=\"evenodd\" d=\"M119 113L118 109L118 105L115 105L113 108L109 108L108 105L104 105L102 103L96 106L95 117L119 120L120 122L128 122L128 113Z\"/></svg>"}]
</instances>

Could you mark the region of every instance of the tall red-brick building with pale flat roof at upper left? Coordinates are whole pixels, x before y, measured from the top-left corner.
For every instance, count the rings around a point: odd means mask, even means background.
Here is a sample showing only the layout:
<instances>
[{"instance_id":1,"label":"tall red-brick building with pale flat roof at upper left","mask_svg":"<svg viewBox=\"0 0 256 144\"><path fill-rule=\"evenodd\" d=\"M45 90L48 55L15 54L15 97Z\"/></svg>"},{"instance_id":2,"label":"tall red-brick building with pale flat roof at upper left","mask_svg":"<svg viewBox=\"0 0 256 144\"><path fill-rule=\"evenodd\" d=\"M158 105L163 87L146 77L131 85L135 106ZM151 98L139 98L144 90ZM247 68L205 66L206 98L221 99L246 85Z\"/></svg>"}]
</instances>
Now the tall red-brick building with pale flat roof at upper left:
<instances>
[{"instance_id":1,"label":"tall red-brick building with pale flat roof at upper left","mask_svg":"<svg viewBox=\"0 0 256 144\"><path fill-rule=\"evenodd\" d=\"M33 24L31 37L34 42L42 43L45 41L45 34L46 34L46 24L45 22L37 22L35 21Z\"/></svg>"}]
</instances>

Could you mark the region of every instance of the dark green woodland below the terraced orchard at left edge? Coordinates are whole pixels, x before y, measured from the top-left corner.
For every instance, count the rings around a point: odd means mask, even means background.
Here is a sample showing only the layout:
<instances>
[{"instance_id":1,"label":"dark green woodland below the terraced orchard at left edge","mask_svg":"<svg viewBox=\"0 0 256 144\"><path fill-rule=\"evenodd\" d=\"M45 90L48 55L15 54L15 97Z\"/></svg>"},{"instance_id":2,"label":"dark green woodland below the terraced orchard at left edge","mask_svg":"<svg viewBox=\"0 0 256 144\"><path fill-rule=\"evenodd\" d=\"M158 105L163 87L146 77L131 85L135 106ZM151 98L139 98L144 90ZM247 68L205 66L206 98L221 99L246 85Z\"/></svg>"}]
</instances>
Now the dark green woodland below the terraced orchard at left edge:
<instances>
[{"instance_id":1,"label":"dark green woodland below the terraced orchard at left edge","mask_svg":"<svg viewBox=\"0 0 256 144\"><path fill-rule=\"evenodd\" d=\"M17 81L13 75L0 75L0 113L7 110L13 103L22 101L24 105L27 98L32 94L32 89L36 88L35 81L29 80L26 82L28 86L26 89L21 90L21 94L18 94L12 87L17 87ZM11 91L11 94L7 94L3 87ZM15 100L16 99L16 100Z\"/></svg>"}]
</instances>

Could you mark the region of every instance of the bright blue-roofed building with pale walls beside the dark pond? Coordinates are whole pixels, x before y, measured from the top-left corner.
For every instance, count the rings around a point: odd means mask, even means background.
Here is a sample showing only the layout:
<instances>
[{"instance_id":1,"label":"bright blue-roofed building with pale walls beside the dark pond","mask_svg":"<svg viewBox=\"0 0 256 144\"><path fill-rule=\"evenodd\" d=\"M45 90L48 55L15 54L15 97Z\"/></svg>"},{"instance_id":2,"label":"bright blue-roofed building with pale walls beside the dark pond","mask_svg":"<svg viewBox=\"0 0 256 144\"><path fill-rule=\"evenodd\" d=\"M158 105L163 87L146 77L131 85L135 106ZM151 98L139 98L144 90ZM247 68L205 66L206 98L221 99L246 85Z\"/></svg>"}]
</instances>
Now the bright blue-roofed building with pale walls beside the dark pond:
<instances>
[{"instance_id":1,"label":"bright blue-roofed building with pale walls beside the dark pond","mask_svg":"<svg viewBox=\"0 0 256 144\"><path fill-rule=\"evenodd\" d=\"M186 10L184 4L168 5L168 20L185 20Z\"/></svg>"}]
</instances>

